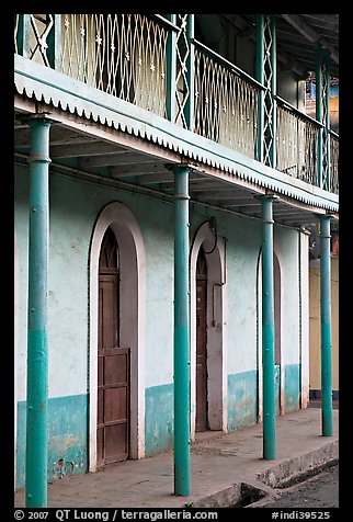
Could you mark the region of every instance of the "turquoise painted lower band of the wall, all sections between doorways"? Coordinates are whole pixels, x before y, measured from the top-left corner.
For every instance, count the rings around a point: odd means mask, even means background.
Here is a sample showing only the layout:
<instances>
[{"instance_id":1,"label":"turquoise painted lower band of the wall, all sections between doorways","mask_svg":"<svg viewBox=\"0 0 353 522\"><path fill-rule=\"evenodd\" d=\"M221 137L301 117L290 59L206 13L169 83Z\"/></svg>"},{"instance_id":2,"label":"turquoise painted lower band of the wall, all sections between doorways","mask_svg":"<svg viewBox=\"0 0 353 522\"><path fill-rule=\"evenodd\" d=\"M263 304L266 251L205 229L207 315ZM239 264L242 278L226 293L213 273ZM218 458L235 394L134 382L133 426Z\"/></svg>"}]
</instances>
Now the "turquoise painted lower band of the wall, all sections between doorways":
<instances>
[{"instance_id":1,"label":"turquoise painted lower band of the wall, all sections between doorways","mask_svg":"<svg viewBox=\"0 0 353 522\"><path fill-rule=\"evenodd\" d=\"M285 411L299 408L300 365L285 366ZM173 446L173 384L146 389L145 452L151 456ZM258 371L228 375L228 430L254 424ZM88 470L88 396L48 399L48 480ZM25 484L26 402L18 404L16 488ZM62 459L62 465L61 465Z\"/></svg>"}]
</instances>

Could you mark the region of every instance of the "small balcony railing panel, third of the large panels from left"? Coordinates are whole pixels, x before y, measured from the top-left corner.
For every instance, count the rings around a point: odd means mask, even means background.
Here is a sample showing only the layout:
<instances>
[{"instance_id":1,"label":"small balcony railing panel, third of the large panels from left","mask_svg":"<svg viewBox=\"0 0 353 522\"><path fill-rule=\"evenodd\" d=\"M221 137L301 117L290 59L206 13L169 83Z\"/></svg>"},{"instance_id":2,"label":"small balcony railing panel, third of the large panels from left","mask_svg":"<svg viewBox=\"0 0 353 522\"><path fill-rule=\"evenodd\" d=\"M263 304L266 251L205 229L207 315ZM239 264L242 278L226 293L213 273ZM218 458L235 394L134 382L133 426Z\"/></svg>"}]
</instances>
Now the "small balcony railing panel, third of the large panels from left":
<instances>
[{"instance_id":1,"label":"small balcony railing panel, third of the large panels from left","mask_svg":"<svg viewBox=\"0 0 353 522\"><path fill-rule=\"evenodd\" d=\"M276 97L276 169L312 185L318 184L319 123Z\"/></svg>"}]
</instances>

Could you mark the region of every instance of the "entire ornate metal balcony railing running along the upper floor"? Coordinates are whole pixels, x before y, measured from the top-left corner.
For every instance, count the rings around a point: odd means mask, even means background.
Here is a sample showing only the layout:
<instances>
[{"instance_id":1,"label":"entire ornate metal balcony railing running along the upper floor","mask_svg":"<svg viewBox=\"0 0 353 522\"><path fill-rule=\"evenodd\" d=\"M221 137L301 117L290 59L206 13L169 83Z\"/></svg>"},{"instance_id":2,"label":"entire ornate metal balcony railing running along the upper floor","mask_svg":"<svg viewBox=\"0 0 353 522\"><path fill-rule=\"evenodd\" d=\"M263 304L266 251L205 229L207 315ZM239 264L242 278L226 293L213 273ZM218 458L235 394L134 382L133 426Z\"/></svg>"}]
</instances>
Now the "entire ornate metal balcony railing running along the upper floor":
<instances>
[{"instance_id":1,"label":"entire ornate metal balcony railing running along the upper floor","mask_svg":"<svg viewBox=\"0 0 353 522\"><path fill-rule=\"evenodd\" d=\"M14 53L260 159L259 94L265 88L195 41L191 16L15 14ZM338 193L338 135L329 135L323 184L317 168L322 125L275 101L275 168Z\"/></svg>"}]
</instances>

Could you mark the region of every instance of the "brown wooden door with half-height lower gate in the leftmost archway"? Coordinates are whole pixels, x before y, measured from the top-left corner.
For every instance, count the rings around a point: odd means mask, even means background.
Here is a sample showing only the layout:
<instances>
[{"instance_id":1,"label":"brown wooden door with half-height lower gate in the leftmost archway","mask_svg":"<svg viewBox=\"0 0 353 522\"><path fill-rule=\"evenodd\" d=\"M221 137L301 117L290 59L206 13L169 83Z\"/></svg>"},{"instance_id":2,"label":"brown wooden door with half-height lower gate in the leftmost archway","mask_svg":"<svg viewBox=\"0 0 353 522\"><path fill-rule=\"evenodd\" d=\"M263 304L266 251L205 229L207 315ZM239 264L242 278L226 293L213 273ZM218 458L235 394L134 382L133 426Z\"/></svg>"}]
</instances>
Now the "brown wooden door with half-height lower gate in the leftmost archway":
<instances>
[{"instance_id":1,"label":"brown wooden door with half-height lower gate in the leftmost archway","mask_svg":"<svg viewBox=\"0 0 353 522\"><path fill-rule=\"evenodd\" d=\"M98 466L128 457L129 349L119 348L118 290L118 249L109 228L99 271Z\"/></svg>"}]
</instances>

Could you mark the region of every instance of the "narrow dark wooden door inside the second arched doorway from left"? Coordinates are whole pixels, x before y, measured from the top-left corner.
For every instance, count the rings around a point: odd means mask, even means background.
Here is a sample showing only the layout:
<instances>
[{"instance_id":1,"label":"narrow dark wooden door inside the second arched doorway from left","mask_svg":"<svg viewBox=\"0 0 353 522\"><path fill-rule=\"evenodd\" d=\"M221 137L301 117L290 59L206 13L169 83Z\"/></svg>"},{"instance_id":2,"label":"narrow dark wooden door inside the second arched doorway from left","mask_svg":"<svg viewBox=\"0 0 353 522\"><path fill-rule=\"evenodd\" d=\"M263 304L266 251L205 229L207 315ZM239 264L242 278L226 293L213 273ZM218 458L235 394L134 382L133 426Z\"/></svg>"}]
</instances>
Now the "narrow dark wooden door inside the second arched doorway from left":
<instances>
[{"instance_id":1,"label":"narrow dark wooden door inside the second arched doorway from left","mask_svg":"<svg viewBox=\"0 0 353 522\"><path fill-rule=\"evenodd\" d=\"M208 429L207 419L207 264L200 250L196 268L196 431Z\"/></svg>"}]
</instances>

